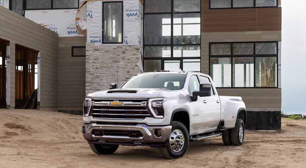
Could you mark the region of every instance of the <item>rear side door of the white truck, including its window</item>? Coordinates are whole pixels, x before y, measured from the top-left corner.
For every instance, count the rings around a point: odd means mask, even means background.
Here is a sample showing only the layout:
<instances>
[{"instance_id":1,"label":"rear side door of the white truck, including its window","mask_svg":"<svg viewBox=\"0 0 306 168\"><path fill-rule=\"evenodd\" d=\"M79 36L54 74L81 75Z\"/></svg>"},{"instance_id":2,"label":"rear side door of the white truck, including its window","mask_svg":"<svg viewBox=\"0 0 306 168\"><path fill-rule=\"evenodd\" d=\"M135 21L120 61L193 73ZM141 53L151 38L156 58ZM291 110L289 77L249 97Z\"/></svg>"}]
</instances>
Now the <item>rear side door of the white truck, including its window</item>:
<instances>
[{"instance_id":1,"label":"rear side door of the white truck, including its window","mask_svg":"<svg viewBox=\"0 0 306 168\"><path fill-rule=\"evenodd\" d=\"M211 82L208 77L198 75L198 78L200 79L200 82ZM204 97L207 101L206 105L208 108L207 112L207 127L208 129L215 130L216 127L218 127L218 124L221 119L221 102L219 96L214 93L214 90L211 86L211 96Z\"/></svg>"}]
</instances>

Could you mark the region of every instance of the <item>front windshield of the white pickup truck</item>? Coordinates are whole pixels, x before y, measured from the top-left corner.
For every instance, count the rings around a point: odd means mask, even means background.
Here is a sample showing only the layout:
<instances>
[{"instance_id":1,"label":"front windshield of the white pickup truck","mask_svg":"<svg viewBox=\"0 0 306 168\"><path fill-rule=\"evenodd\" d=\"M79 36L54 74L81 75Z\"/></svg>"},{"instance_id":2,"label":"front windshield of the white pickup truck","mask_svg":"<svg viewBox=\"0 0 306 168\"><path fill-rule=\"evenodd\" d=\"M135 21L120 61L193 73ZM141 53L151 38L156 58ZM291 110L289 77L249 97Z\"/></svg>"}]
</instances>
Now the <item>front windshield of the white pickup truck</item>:
<instances>
[{"instance_id":1,"label":"front windshield of the white pickup truck","mask_svg":"<svg viewBox=\"0 0 306 168\"><path fill-rule=\"evenodd\" d=\"M129 79L121 89L134 88L165 88L170 90L182 89L187 74L153 73L139 74Z\"/></svg>"}]
</instances>

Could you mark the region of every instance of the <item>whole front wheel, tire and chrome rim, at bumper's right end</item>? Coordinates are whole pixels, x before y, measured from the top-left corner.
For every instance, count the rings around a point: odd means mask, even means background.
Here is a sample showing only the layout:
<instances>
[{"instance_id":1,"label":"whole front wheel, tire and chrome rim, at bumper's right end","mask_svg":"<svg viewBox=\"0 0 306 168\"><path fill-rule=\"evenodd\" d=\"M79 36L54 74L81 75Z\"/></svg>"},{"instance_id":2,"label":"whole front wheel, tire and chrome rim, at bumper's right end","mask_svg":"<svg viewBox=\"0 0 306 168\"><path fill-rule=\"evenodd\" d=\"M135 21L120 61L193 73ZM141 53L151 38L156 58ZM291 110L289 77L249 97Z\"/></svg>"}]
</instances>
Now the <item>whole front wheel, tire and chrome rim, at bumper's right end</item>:
<instances>
[{"instance_id":1,"label":"whole front wheel, tire and chrome rim, at bumper's right end","mask_svg":"<svg viewBox=\"0 0 306 168\"><path fill-rule=\"evenodd\" d=\"M167 159L176 159L182 157L188 149L189 134L181 122L171 122L172 132L166 148L159 148L159 152Z\"/></svg>"}]
</instances>

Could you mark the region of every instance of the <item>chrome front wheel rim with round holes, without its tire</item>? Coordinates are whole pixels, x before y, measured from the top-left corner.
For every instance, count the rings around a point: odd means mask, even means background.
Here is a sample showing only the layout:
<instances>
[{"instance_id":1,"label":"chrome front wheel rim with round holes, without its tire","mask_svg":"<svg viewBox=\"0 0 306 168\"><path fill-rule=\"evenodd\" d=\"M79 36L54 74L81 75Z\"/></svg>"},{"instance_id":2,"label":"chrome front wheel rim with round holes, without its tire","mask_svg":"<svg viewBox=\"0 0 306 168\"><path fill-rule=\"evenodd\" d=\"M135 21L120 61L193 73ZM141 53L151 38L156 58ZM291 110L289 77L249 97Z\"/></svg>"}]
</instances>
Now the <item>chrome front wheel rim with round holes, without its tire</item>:
<instances>
[{"instance_id":1,"label":"chrome front wheel rim with round holes, without its tire","mask_svg":"<svg viewBox=\"0 0 306 168\"><path fill-rule=\"evenodd\" d=\"M169 145L173 152L180 152L185 144L184 134L181 130L172 131L169 139Z\"/></svg>"}]
</instances>

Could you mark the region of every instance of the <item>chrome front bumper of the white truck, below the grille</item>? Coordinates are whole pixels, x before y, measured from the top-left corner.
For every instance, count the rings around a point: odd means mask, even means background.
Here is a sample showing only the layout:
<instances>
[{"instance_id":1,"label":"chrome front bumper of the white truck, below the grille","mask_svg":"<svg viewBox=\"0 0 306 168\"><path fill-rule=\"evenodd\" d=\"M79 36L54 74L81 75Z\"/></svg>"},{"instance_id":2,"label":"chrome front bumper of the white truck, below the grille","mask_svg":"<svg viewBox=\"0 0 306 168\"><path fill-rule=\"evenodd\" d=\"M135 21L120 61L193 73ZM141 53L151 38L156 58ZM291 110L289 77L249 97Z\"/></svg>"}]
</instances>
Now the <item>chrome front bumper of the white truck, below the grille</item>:
<instances>
[{"instance_id":1,"label":"chrome front bumper of the white truck, below the grille","mask_svg":"<svg viewBox=\"0 0 306 168\"><path fill-rule=\"evenodd\" d=\"M159 146L165 145L170 138L172 126L147 126L146 124L135 125L108 125L108 124L82 124L82 133L89 143L100 144L121 144L121 145L141 145ZM93 130L114 130L114 131L139 131L141 137L129 137L120 135L96 136ZM155 135L155 130L160 130L160 137Z\"/></svg>"}]
</instances>

